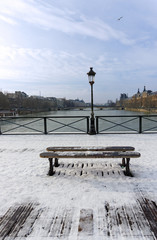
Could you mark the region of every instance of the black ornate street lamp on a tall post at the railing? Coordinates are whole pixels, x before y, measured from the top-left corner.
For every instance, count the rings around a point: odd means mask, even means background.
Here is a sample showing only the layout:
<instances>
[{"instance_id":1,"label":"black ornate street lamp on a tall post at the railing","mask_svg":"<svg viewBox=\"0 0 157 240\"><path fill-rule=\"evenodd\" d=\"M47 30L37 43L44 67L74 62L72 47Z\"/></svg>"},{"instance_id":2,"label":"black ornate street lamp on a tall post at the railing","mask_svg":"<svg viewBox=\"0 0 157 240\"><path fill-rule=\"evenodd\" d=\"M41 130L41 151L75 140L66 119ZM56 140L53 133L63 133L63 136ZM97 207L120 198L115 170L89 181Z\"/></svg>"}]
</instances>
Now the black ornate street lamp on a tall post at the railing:
<instances>
[{"instance_id":1,"label":"black ornate street lamp on a tall post at the railing","mask_svg":"<svg viewBox=\"0 0 157 240\"><path fill-rule=\"evenodd\" d=\"M87 73L88 80L91 85L91 118L90 118L90 131L89 131L89 134L91 134L91 135L96 134L94 111L93 111L93 84L94 84L95 74L96 73L93 71L93 68L91 67L90 71Z\"/></svg>"}]
</instances>

